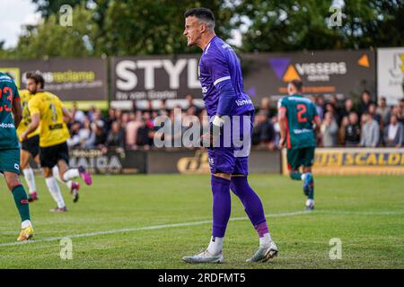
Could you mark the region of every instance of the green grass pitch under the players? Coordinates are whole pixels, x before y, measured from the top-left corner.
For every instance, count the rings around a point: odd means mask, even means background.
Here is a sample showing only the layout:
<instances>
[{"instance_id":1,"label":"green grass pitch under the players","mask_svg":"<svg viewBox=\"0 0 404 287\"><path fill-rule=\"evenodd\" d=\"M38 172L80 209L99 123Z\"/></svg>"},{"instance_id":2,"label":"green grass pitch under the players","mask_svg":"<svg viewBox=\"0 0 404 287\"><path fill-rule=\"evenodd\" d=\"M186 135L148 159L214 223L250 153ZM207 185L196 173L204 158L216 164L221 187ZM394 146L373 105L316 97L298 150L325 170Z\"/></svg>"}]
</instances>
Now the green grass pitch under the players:
<instances>
[{"instance_id":1,"label":"green grass pitch under the players","mask_svg":"<svg viewBox=\"0 0 404 287\"><path fill-rule=\"evenodd\" d=\"M0 183L0 268L404 268L404 178L321 177L316 210L303 213L302 183L280 175L252 175L279 255L247 264L258 237L242 204L232 196L232 218L224 239L223 265L181 261L206 248L211 231L208 175L96 176L81 182L73 204L61 187L68 212L55 207L44 179L31 204L36 235L15 244L20 222L13 198ZM175 223L184 223L172 225ZM70 237L73 259L60 258L60 239ZM342 242L342 258L331 260L329 240Z\"/></svg>"}]
</instances>

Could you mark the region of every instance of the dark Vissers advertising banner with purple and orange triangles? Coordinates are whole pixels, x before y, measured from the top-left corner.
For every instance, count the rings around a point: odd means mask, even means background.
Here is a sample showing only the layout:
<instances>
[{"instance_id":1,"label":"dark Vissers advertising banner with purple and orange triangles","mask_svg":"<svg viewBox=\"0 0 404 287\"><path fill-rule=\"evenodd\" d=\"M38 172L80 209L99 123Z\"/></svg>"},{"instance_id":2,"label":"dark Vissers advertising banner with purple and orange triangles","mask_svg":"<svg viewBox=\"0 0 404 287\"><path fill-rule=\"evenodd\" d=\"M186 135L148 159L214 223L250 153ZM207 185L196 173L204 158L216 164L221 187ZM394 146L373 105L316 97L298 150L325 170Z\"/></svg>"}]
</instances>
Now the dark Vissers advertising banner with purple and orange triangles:
<instances>
[{"instance_id":1,"label":"dark Vissers advertising banner with purple and orange triangles","mask_svg":"<svg viewBox=\"0 0 404 287\"><path fill-rule=\"evenodd\" d=\"M305 94L336 94L356 99L369 90L375 98L375 59L370 50L259 53L242 56L244 88L255 104L277 100L287 83L300 79Z\"/></svg>"}]
</instances>

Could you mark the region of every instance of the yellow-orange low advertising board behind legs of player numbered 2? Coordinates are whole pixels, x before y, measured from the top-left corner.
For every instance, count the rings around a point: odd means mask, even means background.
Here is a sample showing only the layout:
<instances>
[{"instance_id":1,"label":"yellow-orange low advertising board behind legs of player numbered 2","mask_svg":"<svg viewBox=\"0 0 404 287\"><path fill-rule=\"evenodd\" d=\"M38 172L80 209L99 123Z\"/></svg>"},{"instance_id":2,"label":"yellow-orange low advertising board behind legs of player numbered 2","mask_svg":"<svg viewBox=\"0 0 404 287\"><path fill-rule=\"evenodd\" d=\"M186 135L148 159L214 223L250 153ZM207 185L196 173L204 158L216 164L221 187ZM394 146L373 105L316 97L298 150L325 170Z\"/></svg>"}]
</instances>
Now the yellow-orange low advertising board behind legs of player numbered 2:
<instances>
[{"instance_id":1,"label":"yellow-orange low advertising board behind legs of player numbered 2","mask_svg":"<svg viewBox=\"0 0 404 287\"><path fill-rule=\"evenodd\" d=\"M282 167L287 175L286 151L282 153ZM315 152L313 173L401 175L404 174L404 149L318 148Z\"/></svg>"}]
</instances>

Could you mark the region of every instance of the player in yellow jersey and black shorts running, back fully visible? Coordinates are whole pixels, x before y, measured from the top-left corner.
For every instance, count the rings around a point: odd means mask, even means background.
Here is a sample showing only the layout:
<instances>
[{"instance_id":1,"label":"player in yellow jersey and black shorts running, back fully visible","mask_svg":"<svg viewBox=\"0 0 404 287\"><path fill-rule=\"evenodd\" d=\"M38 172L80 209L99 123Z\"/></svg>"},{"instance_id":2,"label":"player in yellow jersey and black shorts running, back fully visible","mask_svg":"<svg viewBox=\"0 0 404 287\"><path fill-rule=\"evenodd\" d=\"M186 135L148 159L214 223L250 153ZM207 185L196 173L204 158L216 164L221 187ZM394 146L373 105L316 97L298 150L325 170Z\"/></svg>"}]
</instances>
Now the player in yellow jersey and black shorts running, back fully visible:
<instances>
[{"instance_id":1,"label":"player in yellow jersey and black shorts running, back fully visible","mask_svg":"<svg viewBox=\"0 0 404 287\"><path fill-rule=\"evenodd\" d=\"M69 152L67 139L70 137L66 122L72 117L62 101L54 94L43 91L45 81L40 74L28 74L27 87L34 96L28 103L31 113L31 124L22 133L21 139L40 127L40 166L50 194L57 202L53 212L66 212L66 204L57 186L57 180L52 171L55 166L58 174L55 176L66 182L74 193L74 202L78 200L78 187L73 178L81 177L87 185L92 184L90 173L83 167L69 169Z\"/></svg>"}]
</instances>

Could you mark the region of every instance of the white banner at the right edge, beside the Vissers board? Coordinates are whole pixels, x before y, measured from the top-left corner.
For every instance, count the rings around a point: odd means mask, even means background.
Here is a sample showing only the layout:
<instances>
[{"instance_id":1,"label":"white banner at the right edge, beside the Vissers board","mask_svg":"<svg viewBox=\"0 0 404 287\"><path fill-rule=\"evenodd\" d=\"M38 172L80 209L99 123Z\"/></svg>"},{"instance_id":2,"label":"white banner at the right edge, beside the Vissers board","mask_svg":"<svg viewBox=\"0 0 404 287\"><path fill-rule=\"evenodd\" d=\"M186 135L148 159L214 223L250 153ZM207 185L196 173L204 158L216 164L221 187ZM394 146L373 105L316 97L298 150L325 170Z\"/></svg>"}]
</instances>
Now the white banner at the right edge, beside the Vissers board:
<instances>
[{"instance_id":1,"label":"white banner at the right edge, beside the Vissers board","mask_svg":"<svg viewBox=\"0 0 404 287\"><path fill-rule=\"evenodd\" d=\"M404 98L404 48L377 49L377 95L388 105Z\"/></svg>"}]
</instances>

